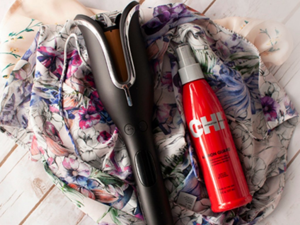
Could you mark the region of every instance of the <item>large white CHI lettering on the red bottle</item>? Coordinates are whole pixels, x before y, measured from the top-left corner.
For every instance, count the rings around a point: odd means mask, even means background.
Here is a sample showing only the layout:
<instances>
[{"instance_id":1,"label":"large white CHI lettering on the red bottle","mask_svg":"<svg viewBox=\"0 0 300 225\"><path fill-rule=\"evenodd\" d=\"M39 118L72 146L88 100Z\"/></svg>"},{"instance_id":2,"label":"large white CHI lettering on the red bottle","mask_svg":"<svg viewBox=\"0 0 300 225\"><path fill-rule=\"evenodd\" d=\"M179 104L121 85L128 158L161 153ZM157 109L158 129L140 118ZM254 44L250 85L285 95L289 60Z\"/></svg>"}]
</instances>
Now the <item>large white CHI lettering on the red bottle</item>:
<instances>
[{"instance_id":1,"label":"large white CHI lettering on the red bottle","mask_svg":"<svg viewBox=\"0 0 300 225\"><path fill-rule=\"evenodd\" d=\"M225 129L221 112L210 114L210 117L210 121L207 121L206 116L202 116L200 120L192 119L190 121L190 132L194 137L200 137L203 132L204 134L210 134L211 127L214 127L215 131Z\"/></svg>"}]
</instances>

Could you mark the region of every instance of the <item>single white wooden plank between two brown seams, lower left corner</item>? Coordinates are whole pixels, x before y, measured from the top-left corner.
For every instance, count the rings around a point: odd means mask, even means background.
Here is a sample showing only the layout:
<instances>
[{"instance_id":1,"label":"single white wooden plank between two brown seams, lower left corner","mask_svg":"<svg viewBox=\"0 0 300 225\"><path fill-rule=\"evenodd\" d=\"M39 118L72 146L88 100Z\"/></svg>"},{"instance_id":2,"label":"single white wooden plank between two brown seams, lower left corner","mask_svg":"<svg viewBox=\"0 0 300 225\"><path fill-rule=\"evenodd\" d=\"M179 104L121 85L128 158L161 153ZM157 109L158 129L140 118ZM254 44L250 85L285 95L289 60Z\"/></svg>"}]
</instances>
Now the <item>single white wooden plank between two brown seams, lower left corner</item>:
<instances>
[{"instance_id":1,"label":"single white wooden plank between two brown seams, lower left corner","mask_svg":"<svg viewBox=\"0 0 300 225\"><path fill-rule=\"evenodd\" d=\"M43 165L17 147L0 167L0 224L19 224L52 185Z\"/></svg>"}]
</instances>

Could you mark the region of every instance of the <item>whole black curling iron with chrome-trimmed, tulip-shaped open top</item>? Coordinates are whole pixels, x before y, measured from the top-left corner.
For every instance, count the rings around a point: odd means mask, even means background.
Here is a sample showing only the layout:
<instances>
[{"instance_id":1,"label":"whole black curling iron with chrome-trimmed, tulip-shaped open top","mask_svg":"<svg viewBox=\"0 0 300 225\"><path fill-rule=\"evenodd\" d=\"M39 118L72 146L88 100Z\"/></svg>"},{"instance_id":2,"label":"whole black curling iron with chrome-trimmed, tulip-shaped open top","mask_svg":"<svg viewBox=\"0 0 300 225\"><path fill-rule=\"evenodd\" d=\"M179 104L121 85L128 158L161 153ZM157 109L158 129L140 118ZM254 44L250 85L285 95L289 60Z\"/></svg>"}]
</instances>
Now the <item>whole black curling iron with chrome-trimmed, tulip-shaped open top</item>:
<instances>
[{"instance_id":1,"label":"whole black curling iron with chrome-trimmed, tulip-shaped open top","mask_svg":"<svg viewBox=\"0 0 300 225\"><path fill-rule=\"evenodd\" d=\"M88 16L74 19L82 32L99 98L115 122L131 160L148 225L173 225L152 136L153 81L136 1L107 27Z\"/></svg>"}]
</instances>

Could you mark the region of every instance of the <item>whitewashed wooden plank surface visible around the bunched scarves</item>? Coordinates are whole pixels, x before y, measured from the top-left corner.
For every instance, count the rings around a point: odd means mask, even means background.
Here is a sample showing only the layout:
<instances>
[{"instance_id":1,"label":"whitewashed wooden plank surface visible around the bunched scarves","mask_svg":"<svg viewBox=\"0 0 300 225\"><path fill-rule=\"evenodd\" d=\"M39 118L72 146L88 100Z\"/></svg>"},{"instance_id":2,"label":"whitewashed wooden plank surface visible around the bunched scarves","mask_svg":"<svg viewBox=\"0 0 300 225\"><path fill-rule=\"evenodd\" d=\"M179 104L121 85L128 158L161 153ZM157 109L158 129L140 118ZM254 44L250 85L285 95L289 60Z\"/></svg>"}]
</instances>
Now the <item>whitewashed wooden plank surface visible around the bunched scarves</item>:
<instances>
[{"instance_id":1,"label":"whitewashed wooden plank surface visible around the bunched scarves","mask_svg":"<svg viewBox=\"0 0 300 225\"><path fill-rule=\"evenodd\" d=\"M88 7L121 10L131 0L79 0ZM205 12L211 19L226 16L249 16L283 22L291 31L295 49L280 67L272 67L276 79L286 89L300 111L300 0L141 0L143 6L169 2L184 2ZM12 0L1 0L0 19ZM0 31L1 32L1 31ZM299 224L300 212L300 125L296 128L288 149L286 187L275 211L259 225ZM0 224L95 224L51 184L40 163L31 162L28 153L0 133ZM5 194L3 194L5 193ZM64 211L60 209L64 208ZM17 213L16 213L17 212Z\"/></svg>"}]
</instances>

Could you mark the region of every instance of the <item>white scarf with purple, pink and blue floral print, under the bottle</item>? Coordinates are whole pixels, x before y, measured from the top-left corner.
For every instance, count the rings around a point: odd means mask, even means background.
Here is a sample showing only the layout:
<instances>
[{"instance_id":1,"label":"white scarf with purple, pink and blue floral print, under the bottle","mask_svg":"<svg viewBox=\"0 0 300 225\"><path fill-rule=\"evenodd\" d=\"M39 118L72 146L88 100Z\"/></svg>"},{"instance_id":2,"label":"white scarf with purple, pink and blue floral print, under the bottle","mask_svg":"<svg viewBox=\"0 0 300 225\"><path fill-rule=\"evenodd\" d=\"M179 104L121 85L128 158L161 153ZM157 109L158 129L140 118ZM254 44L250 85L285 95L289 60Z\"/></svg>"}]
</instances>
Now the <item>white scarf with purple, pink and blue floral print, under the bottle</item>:
<instances>
[{"instance_id":1,"label":"white scarf with purple, pink and blue floral print, under the bottle","mask_svg":"<svg viewBox=\"0 0 300 225\"><path fill-rule=\"evenodd\" d=\"M253 224L261 220L280 199L286 149L298 113L256 47L242 36L184 4L145 10L145 18L149 12L152 17L142 32L155 80L153 134L174 223ZM94 18L114 21L115 16L116 12ZM78 37L80 49L75 39L67 43L67 71L61 80L64 46L71 34ZM182 42L192 47L205 79L231 118L229 125L253 195L251 203L231 211L211 211L186 132L173 50ZM88 62L84 40L73 21L41 26L8 78L1 126L30 151L33 160L42 160L56 186L95 221L144 224L122 137L80 55ZM196 196L193 210L177 204L180 192Z\"/></svg>"}]
</instances>

